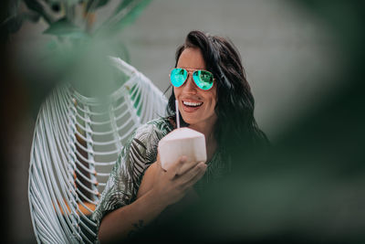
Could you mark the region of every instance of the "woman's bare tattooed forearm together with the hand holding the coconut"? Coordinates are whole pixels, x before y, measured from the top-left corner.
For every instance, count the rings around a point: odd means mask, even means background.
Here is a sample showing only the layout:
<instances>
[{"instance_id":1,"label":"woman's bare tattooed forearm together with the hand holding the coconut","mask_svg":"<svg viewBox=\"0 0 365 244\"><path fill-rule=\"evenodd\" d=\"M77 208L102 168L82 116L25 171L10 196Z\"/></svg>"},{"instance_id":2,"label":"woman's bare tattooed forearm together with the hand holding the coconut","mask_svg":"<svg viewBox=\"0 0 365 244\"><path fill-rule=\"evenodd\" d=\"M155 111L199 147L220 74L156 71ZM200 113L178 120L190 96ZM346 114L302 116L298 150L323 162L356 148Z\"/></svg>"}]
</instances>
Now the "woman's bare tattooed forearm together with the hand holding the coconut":
<instances>
[{"instance_id":1,"label":"woman's bare tattooed forearm together with the hand holding the coconut","mask_svg":"<svg viewBox=\"0 0 365 244\"><path fill-rule=\"evenodd\" d=\"M102 219L99 227L100 242L127 238L131 232L141 228L141 225L147 225L158 217L164 208L182 199L206 170L206 164L199 163L183 175L178 175L185 161L186 158L182 157L169 171L164 171L159 161L154 163L151 170L146 172L150 175L146 177L146 183L149 182L151 187L143 195L139 193L140 197L130 205L120 207ZM141 186L146 183L142 181Z\"/></svg>"}]
</instances>

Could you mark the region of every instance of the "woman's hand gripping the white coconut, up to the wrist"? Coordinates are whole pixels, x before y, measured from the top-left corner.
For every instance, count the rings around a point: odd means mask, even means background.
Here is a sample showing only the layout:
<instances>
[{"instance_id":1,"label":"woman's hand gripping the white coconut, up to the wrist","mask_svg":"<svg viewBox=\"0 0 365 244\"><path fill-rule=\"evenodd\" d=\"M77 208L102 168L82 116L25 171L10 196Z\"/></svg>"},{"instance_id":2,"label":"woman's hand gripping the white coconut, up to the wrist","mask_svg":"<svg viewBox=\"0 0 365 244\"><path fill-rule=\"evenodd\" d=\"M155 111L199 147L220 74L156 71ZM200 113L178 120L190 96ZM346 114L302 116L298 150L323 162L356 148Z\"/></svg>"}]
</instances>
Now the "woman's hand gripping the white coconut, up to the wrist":
<instances>
[{"instance_id":1,"label":"woman's hand gripping the white coconut, up to the wrist","mask_svg":"<svg viewBox=\"0 0 365 244\"><path fill-rule=\"evenodd\" d=\"M153 195L158 197L166 207L180 201L189 189L202 178L207 167L203 162L188 163L186 156L172 164L168 171L162 169L159 157L154 164L154 174L153 176L151 174L153 177L151 190Z\"/></svg>"}]
</instances>

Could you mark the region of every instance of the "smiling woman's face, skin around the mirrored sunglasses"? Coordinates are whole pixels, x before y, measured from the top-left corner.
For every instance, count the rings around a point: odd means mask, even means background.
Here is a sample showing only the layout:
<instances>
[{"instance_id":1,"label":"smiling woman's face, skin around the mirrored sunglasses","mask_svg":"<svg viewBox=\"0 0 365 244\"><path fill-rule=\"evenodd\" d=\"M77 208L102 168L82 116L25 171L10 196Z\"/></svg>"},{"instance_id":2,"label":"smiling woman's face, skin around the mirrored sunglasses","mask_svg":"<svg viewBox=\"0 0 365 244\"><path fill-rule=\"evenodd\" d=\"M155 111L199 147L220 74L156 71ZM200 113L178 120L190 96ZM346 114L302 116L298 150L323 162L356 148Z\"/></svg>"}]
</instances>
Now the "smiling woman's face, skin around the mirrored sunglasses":
<instances>
[{"instance_id":1,"label":"smiling woman's face, skin around the mirrored sunglasses","mask_svg":"<svg viewBox=\"0 0 365 244\"><path fill-rule=\"evenodd\" d=\"M185 48L181 54L177 68L203 69L205 62L202 51L199 48ZM192 128L203 128L214 125L217 116L214 111L216 103L216 84L210 90L201 90L193 81L193 72L189 72L187 80L183 86L173 88L175 97L179 102L179 111L183 116L184 122L190 124Z\"/></svg>"}]
</instances>

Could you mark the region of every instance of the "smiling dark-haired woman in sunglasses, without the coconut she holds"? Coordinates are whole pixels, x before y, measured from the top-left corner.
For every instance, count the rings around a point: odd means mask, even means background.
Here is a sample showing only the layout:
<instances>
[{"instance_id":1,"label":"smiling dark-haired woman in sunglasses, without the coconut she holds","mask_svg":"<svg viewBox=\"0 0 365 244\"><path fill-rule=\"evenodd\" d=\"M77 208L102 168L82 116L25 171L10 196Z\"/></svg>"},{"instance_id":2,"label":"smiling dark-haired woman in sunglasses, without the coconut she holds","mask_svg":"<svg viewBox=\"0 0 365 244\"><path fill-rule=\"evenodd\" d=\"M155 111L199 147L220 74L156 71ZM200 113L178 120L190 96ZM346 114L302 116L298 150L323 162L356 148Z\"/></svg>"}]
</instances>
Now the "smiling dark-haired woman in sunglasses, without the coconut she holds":
<instances>
[{"instance_id":1,"label":"smiling dark-haired woman in sunglasses, without the coconut she holds","mask_svg":"<svg viewBox=\"0 0 365 244\"><path fill-rule=\"evenodd\" d=\"M183 196L201 194L227 175L236 152L266 142L255 123L254 98L241 59L229 41L190 32L177 49L170 76L170 116L148 122L133 134L93 214L101 242L128 238ZM205 135L207 162L184 164L183 156L164 171L157 145L176 128L175 100L183 126Z\"/></svg>"}]
</instances>

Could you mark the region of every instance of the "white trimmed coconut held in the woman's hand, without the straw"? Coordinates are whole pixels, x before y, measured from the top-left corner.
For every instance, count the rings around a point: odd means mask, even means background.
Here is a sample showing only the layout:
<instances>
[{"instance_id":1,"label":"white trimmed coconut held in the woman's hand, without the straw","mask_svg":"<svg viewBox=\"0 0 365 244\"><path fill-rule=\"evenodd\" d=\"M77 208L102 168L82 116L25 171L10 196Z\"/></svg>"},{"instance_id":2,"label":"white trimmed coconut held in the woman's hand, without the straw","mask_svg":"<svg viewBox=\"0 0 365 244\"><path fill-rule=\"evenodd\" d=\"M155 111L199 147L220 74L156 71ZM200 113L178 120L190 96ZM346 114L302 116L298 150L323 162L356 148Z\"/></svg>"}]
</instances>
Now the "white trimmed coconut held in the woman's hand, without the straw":
<instances>
[{"instance_id":1,"label":"white trimmed coconut held in the woman's hand, without the straw","mask_svg":"<svg viewBox=\"0 0 365 244\"><path fill-rule=\"evenodd\" d=\"M163 137L158 150L164 170L169 170L183 155L187 157L186 164L206 162L205 136L186 127L176 129ZM183 165L183 168L190 166L193 165Z\"/></svg>"}]
</instances>

